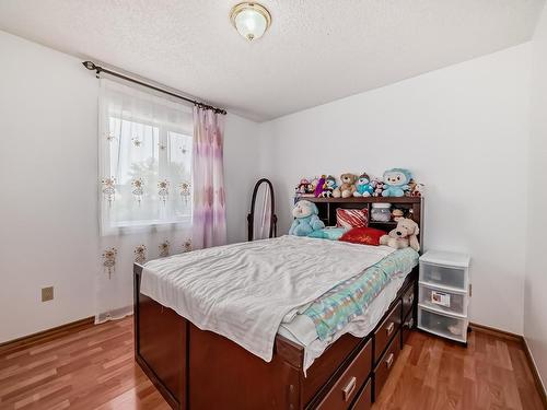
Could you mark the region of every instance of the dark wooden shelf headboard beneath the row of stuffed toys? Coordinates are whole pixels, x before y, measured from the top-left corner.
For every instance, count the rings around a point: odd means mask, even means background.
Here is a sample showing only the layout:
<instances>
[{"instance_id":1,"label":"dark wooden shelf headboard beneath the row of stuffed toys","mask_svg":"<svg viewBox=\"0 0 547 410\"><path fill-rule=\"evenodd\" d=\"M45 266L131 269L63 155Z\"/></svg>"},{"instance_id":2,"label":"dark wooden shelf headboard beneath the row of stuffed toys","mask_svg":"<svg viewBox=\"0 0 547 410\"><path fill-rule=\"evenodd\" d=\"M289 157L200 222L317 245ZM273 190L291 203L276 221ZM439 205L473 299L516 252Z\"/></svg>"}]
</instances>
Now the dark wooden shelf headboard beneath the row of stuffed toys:
<instances>
[{"instance_id":1,"label":"dark wooden shelf headboard beneath the row of stuffed toys","mask_svg":"<svg viewBox=\"0 0 547 410\"><path fill-rule=\"evenodd\" d=\"M326 226L336 225L336 210L338 208L345 209L364 209L369 210L369 226L376 227L383 231L391 231L397 225L397 222L376 222L371 219L371 210L373 203L391 203L393 208L404 209L411 211L411 219L420 226L420 234L418 239L420 243L423 241L423 197L359 197L359 198L314 198L301 197L314 202L319 210L319 218L325 222Z\"/></svg>"}]
</instances>

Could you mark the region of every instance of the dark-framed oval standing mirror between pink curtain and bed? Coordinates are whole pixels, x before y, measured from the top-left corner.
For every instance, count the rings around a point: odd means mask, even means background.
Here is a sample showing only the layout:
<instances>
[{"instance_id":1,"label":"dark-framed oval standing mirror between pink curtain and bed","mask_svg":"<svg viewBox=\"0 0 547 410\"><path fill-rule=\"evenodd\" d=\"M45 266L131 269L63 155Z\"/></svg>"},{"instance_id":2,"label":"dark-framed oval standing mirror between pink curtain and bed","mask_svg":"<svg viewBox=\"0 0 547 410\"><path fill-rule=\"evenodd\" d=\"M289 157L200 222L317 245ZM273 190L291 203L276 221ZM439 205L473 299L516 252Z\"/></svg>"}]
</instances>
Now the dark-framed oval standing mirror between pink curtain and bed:
<instances>
[{"instance_id":1,"label":"dark-framed oval standing mirror between pink curtain and bed","mask_svg":"<svg viewBox=\"0 0 547 410\"><path fill-rule=\"evenodd\" d=\"M251 213L247 215L248 241L266 239L277 235L277 216L275 213L274 186L263 178L253 190Z\"/></svg>"}]
</instances>

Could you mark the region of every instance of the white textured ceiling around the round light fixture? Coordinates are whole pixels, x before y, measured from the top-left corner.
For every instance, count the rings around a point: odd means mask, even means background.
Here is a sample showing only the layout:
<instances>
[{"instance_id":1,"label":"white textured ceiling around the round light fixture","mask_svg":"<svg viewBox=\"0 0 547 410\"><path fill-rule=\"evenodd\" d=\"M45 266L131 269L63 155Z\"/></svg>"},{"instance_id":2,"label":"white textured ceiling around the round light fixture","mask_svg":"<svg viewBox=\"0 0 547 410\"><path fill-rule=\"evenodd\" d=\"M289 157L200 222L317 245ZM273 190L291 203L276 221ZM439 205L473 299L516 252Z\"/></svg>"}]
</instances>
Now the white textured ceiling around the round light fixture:
<instances>
[{"instance_id":1,"label":"white textured ceiling around the round light fixture","mask_svg":"<svg viewBox=\"0 0 547 410\"><path fill-rule=\"evenodd\" d=\"M272 25L249 44L236 2L1 0L0 30L266 120L526 42L544 5L263 0Z\"/></svg>"}]
</instances>

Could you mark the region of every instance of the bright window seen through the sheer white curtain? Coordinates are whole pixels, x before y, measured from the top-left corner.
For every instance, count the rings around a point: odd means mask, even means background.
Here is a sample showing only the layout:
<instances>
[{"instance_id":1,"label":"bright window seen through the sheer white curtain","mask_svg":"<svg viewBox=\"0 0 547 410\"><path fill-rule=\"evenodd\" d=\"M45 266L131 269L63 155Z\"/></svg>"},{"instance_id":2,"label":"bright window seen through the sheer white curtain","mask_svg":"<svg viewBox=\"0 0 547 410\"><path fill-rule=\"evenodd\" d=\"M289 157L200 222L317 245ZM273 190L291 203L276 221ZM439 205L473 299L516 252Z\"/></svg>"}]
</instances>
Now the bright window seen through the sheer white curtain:
<instances>
[{"instance_id":1,"label":"bright window seen through the sheer white curtain","mask_svg":"<svg viewBox=\"0 0 547 410\"><path fill-rule=\"evenodd\" d=\"M191 110L101 80L103 234L191 220Z\"/></svg>"}]
</instances>

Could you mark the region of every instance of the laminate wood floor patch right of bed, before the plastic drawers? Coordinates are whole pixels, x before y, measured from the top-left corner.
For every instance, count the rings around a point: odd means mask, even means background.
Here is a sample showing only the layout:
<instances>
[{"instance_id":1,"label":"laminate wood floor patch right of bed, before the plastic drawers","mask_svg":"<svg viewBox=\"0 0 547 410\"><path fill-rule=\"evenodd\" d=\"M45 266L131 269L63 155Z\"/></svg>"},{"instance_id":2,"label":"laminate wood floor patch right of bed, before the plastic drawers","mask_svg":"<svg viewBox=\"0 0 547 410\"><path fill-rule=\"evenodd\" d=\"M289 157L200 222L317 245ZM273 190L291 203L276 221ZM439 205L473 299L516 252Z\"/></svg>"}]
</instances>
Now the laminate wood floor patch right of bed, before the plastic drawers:
<instances>
[{"instance_id":1,"label":"laminate wood floor patch right of bed, before the plastic drawers","mask_svg":"<svg viewBox=\"0 0 547 410\"><path fill-rule=\"evenodd\" d=\"M481 331L468 345L415 331L373 410L543 410L520 341Z\"/></svg>"}]
</instances>

